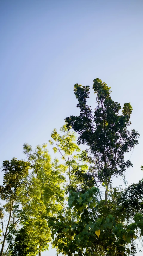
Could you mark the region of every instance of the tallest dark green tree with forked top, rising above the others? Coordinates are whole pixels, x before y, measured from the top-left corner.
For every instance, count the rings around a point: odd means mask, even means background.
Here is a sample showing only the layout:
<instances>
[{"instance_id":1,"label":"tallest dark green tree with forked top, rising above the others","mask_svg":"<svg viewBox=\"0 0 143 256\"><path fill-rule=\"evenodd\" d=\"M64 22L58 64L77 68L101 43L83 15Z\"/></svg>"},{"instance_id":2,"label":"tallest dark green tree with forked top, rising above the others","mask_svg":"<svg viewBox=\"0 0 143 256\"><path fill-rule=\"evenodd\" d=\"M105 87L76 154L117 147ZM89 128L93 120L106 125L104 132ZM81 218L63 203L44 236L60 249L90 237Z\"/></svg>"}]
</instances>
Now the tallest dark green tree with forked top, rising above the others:
<instances>
[{"instance_id":1,"label":"tallest dark green tree with forked top, rising above the others","mask_svg":"<svg viewBox=\"0 0 143 256\"><path fill-rule=\"evenodd\" d=\"M110 97L110 87L99 78L93 80L93 91L96 94L94 113L87 105L90 87L74 85L74 93L79 103L79 116L65 119L67 128L73 128L79 134L78 144L86 143L95 161L95 176L105 186L105 204L107 204L108 187L113 176L122 176L132 166L130 160L124 160L124 153L138 144L138 132L128 130L131 125L130 103L121 105Z\"/></svg>"}]
</instances>

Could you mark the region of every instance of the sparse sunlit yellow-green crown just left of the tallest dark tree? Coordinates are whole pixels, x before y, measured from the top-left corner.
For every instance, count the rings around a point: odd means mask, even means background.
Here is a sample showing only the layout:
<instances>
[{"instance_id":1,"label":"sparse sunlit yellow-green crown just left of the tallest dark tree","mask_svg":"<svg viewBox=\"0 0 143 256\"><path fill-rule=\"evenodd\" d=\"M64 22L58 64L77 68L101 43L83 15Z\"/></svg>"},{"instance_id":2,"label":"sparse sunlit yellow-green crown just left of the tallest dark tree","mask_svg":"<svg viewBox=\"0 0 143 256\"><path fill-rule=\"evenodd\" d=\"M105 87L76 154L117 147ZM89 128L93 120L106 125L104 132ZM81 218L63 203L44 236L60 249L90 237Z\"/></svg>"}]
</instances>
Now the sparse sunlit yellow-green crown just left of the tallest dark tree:
<instances>
[{"instance_id":1,"label":"sparse sunlit yellow-green crown just left of the tallest dark tree","mask_svg":"<svg viewBox=\"0 0 143 256\"><path fill-rule=\"evenodd\" d=\"M80 172L85 175L88 169L87 152L81 149L76 143L76 135L73 131L68 131L66 125L60 128L61 134L58 134L56 129L53 130L49 143L53 146L54 153L59 153L64 161L67 184L65 191L75 190L80 183L75 178L75 173Z\"/></svg>"}]
</instances>

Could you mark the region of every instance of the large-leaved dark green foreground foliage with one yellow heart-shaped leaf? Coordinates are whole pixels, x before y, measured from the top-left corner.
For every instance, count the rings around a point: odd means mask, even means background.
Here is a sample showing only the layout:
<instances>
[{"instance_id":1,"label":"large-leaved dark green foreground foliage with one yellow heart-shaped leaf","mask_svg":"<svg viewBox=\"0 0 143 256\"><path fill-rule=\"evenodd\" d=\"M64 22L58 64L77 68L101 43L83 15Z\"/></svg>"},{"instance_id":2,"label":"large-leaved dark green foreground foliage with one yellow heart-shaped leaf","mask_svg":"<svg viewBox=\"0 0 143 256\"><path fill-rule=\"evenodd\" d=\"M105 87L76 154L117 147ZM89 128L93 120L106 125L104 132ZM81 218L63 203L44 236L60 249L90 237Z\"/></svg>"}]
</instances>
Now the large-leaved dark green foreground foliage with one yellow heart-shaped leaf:
<instances>
[{"instance_id":1,"label":"large-leaved dark green foreground foliage with one yellow heart-shaped leaf","mask_svg":"<svg viewBox=\"0 0 143 256\"><path fill-rule=\"evenodd\" d=\"M93 187L86 193L70 192L69 208L74 215L70 223L67 218L51 221L53 238L59 252L67 255L128 255L131 253L128 245L138 237L137 229L143 235L143 216L136 214L135 222L131 224L117 223L115 217L109 214L99 218L97 200L99 189Z\"/></svg>"}]
</instances>

